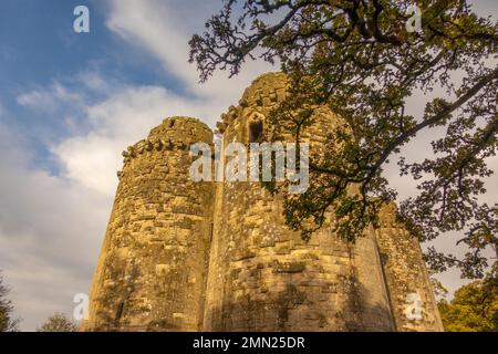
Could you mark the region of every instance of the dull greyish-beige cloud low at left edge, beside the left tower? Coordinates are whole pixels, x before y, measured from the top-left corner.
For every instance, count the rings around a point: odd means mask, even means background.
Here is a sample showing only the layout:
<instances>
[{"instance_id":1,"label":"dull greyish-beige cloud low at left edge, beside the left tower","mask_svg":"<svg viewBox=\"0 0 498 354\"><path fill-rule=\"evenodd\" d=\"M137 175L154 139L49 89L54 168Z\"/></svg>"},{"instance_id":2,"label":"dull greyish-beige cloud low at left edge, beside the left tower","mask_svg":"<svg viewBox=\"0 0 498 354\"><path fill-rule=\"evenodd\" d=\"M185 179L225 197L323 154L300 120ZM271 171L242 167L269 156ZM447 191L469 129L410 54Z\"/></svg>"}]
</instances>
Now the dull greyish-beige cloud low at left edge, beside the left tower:
<instances>
[{"instance_id":1,"label":"dull greyish-beige cloud low at left edge, beside the left tower","mask_svg":"<svg viewBox=\"0 0 498 354\"><path fill-rule=\"evenodd\" d=\"M0 124L0 269L22 329L34 330L89 291L112 198L33 168L25 143Z\"/></svg>"}]
</instances>

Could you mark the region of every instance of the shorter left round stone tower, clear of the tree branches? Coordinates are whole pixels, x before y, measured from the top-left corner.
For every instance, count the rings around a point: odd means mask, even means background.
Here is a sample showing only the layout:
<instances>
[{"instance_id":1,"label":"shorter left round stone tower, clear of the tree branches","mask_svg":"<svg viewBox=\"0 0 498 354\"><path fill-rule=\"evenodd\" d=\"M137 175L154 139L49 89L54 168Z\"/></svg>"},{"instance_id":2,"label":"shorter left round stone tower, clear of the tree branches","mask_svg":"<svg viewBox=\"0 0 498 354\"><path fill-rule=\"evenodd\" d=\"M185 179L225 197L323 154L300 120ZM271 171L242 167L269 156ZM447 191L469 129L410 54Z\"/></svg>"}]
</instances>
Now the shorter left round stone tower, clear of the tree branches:
<instances>
[{"instance_id":1,"label":"shorter left round stone tower, clear of the tree branches","mask_svg":"<svg viewBox=\"0 0 498 354\"><path fill-rule=\"evenodd\" d=\"M124 167L90 295L86 331L201 327L212 184L189 178L198 119L170 117L123 152Z\"/></svg>"}]
</instances>

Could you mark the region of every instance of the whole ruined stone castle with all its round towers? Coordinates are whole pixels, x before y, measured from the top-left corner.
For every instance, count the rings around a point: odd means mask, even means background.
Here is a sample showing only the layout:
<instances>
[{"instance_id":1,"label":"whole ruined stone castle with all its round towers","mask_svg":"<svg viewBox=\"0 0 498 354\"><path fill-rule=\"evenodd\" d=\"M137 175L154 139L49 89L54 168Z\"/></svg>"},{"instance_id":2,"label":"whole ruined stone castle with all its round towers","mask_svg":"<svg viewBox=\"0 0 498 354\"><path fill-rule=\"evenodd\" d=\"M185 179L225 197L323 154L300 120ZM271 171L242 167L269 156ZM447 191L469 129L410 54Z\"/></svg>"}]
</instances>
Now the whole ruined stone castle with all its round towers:
<instances>
[{"instance_id":1,"label":"whole ruined stone castle with all its round towers","mask_svg":"<svg viewBox=\"0 0 498 354\"><path fill-rule=\"evenodd\" d=\"M287 85L280 73L257 79L218 123L224 142L258 140ZM341 124L317 110L302 133L310 154ZM335 236L331 217L305 242L260 184L190 181L197 142L211 144L211 131L176 117L124 153L84 330L443 330L419 246L391 207L355 244ZM407 317L408 294L421 319Z\"/></svg>"}]
</instances>

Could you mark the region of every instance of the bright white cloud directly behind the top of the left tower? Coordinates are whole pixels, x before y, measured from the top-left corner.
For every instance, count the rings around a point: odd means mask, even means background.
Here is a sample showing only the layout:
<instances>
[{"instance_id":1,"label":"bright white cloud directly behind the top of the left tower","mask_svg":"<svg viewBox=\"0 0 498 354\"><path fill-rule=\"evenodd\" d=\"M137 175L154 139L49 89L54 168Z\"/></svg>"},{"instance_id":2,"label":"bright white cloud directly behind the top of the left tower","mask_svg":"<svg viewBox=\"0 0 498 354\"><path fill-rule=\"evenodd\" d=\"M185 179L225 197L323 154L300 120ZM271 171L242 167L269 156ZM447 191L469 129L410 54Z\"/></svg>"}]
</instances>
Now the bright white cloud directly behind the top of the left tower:
<instances>
[{"instance_id":1,"label":"bright white cloud directly behind the top of the left tower","mask_svg":"<svg viewBox=\"0 0 498 354\"><path fill-rule=\"evenodd\" d=\"M121 168L121 152L147 136L163 118L173 115L208 117L214 107L200 100L180 97L159 86L124 86L105 101L86 108L91 131L52 148L66 177L112 196Z\"/></svg>"}]
</instances>

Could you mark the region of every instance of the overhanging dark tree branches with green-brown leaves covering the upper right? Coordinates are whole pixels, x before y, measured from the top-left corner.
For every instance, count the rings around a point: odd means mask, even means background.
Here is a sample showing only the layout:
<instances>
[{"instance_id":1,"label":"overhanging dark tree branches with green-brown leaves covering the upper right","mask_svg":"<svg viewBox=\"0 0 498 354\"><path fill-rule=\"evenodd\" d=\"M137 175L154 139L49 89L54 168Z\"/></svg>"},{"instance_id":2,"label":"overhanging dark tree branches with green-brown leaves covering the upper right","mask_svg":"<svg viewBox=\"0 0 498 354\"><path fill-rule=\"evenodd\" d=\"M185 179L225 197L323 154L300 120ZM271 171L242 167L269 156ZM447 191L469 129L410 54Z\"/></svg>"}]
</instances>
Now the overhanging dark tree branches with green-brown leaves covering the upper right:
<instances>
[{"instance_id":1,"label":"overhanging dark tree branches with green-brown leaves covering the upper right","mask_svg":"<svg viewBox=\"0 0 498 354\"><path fill-rule=\"evenodd\" d=\"M497 150L498 23L465 0L417 6L422 28L408 31L409 1L227 0L191 38L190 62L203 82L216 70L236 75L248 59L280 63L291 92L268 117L274 137L286 131L299 142L318 105L347 122L352 134L344 127L331 136L343 148L312 158L313 184L286 200L286 220L304 238L326 210L351 241L376 225L380 206L396 197L383 170L397 160L418 184L418 194L401 204L400 220L421 241L464 233L457 241L469 249L463 259L429 249L429 266L481 278L491 266L484 250L498 247L498 204L479 199ZM430 97L419 116L406 110L414 93ZM402 148L428 132L433 156L408 162Z\"/></svg>"}]
</instances>

